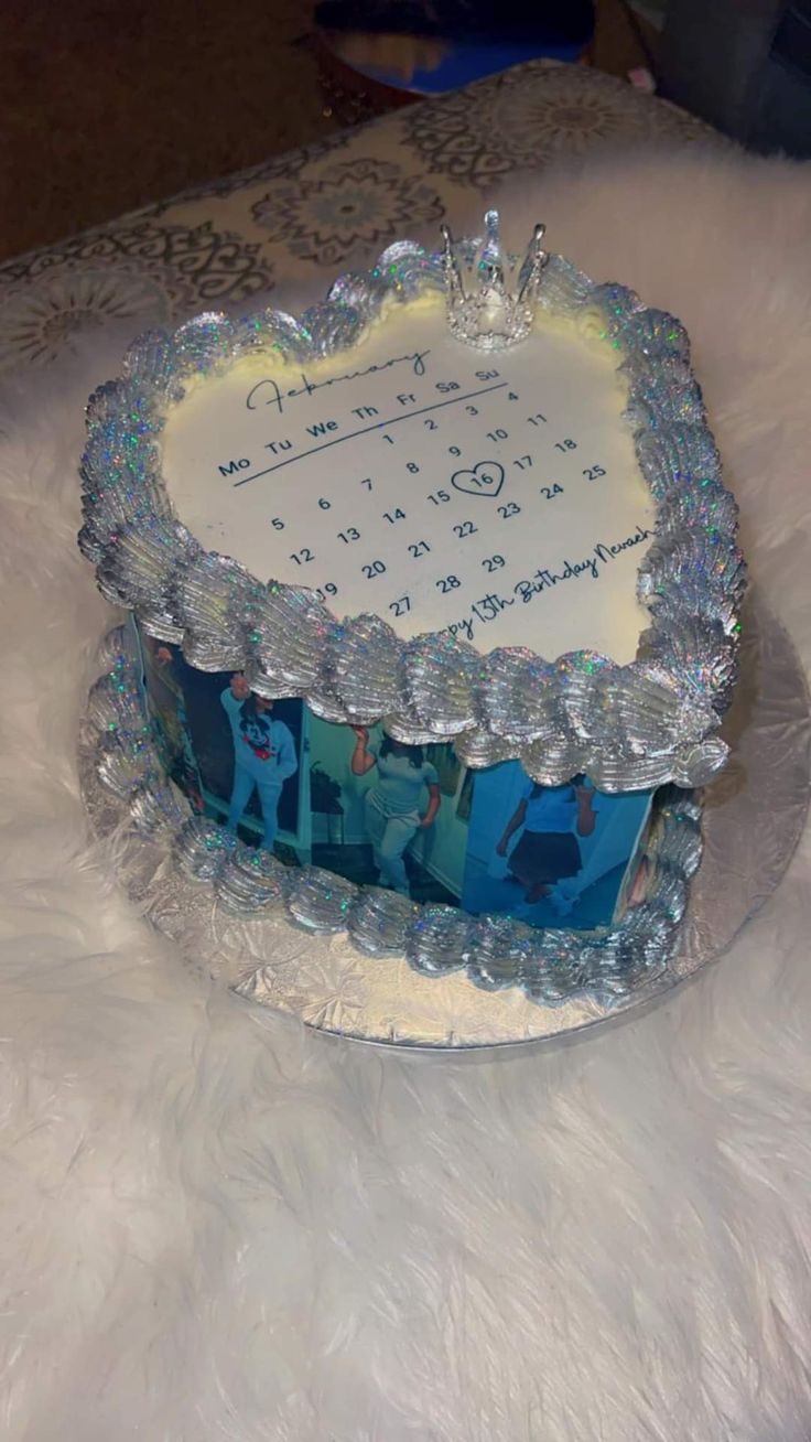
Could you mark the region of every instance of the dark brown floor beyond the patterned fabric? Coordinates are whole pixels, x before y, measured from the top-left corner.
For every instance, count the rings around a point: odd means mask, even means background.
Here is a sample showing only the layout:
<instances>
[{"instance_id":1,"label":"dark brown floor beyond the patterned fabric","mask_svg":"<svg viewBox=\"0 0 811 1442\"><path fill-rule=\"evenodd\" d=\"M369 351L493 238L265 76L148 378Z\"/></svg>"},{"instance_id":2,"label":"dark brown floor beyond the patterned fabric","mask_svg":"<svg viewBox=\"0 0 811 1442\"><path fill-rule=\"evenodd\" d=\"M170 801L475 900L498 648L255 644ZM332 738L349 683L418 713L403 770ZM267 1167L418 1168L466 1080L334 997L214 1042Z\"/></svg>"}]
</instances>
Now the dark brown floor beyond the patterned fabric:
<instances>
[{"instance_id":1,"label":"dark brown floor beyond the patterned fabric","mask_svg":"<svg viewBox=\"0 0 811 1442\"><path fill-rule=\"evenodd\" d=\"M593 63L644 65L622 0ZM308 0L3 0L0 260L340 128Z\"/></svg>"}]
</instances>

